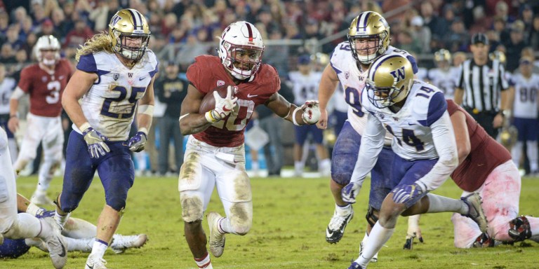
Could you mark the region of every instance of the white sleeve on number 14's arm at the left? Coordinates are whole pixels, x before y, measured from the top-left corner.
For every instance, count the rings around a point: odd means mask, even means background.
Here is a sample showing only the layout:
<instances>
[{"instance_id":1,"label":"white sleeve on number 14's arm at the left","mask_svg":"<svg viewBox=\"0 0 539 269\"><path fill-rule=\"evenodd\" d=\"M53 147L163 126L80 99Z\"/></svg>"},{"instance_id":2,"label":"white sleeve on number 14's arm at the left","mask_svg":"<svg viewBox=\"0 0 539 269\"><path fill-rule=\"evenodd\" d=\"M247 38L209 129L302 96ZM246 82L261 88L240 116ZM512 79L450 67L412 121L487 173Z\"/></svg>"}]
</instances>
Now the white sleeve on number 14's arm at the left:
<instances>
[{"instance_id":1,"label":"white sleeve on number 14's arm at the left","mask_svg":"<svg viewBox=\"0 0 539 269\"><path fill-rule=\"evenodd\" d=\"M365 177L373 170L376 160L378 160L378 155L384 146L384 137L384 126L380 123L380 120L369 113L350 182L357 183L359 186L363 184Z\"/></svg>"}]
</instances>

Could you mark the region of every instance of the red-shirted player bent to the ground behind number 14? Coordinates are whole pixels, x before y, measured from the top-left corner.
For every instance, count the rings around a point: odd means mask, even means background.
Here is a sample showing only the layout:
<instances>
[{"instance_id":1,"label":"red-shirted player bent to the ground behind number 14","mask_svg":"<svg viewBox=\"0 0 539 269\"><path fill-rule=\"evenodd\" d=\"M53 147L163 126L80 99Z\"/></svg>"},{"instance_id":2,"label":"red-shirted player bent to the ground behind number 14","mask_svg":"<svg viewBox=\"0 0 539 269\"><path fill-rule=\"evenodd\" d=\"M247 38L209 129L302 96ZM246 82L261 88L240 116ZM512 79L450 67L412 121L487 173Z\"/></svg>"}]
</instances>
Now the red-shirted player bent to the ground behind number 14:
<instances>
[{"instance_id":1,"label":"red-shirted player bent to the ground behind number 14","mask_svg":"<svg viewBox=\"0 0 539 269\"><path fill-rule=\"evenodd\" d=\"M538 242L539 218L517 216L521 178L510 153L463 108L451 100L447 104L460 163L451 178L463 189L463 197L472 192L481 195L481 207L488 219L488 229L483 233L477 223L453 214L451 221L455 228L455 247L493 247L500 241L518 242L528 238ZM413 223L408 221L415 227L415 233L420 233L418 220L414 218Z\"/></svg>"}]
</instances>

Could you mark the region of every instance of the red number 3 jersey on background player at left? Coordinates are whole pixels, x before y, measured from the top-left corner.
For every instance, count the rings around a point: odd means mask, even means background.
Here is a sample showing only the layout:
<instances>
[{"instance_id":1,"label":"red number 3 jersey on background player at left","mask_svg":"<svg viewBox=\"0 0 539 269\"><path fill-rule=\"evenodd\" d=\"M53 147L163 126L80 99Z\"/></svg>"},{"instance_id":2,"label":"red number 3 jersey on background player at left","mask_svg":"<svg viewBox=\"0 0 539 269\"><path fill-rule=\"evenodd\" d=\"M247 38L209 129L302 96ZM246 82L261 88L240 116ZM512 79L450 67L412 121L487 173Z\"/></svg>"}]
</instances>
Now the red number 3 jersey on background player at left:
<instances>
[{"instance_id":1,"label":"red number 3 jersey on background player at left","mask_svg":"<svg viewBox=\"0 0 539 269\"><path fill-rule=\"evenodd\" d=\"M18 87L30 95L30 113L37 116L57 117L62 112L62 92L71 78L69 61L62 59L53 74L32 64L20 71Z\"/></svg>"}]
</instances>

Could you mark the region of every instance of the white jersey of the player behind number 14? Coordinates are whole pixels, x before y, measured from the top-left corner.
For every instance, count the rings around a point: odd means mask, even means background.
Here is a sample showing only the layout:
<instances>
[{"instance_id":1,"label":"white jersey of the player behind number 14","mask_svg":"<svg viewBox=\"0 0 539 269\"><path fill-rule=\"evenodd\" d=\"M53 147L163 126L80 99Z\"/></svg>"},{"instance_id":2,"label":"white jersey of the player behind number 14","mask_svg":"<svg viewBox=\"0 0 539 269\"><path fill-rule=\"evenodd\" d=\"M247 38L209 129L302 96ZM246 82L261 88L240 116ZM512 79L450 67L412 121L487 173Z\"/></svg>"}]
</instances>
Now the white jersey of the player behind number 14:
<instances>
[{"instance_id":1,"label":"white jersey of the player behind number 14","mask_svg":"<svg viewBox=\"0 0 539 269\"><path fill-rule=\"evenodd\" d=\"M385 54L388 53L401 53L404 55L404 57L412 63L413 73L417 73L418 64L415 62L415 58L405 50L399 50L389 46ZM357 61L352 56L350 43L348 43L348 41L339 43L335 47L329 63L335 70L335 73L337 73L339 81L342 84L345 101L350 105L348 108L348 120L350 121L350 124L352 124L352 127L354 127L354 130L356 130L359 135L363 135L367 117L365 114L366 111L361 108L360 97L361 91L365 87L367 70L362 71L357 67ZM386 136L386 139L391 139L391 137Z\"/></svg>"}]
</instances>

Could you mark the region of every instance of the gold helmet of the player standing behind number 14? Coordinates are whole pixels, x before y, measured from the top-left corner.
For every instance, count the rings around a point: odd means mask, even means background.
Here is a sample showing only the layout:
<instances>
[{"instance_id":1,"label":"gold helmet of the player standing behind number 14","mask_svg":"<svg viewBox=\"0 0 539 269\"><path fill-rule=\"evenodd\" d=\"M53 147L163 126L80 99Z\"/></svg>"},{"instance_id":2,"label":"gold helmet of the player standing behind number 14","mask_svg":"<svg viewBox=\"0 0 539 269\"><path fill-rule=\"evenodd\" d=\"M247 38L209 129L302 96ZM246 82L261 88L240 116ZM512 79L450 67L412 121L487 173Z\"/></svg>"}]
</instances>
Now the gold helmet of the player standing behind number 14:
<instances>
[{"instance_id":1,"label":"gold helmet of the player standing behind number 14","mask_svg":"<svg viewBox=\"0 0 539 269\"><path fill-rule=\"evenodd\" d=\"M347 34L354 58L361 64L371 64L390 46L390 25L379 13L360 13L348 28Z\"/></svg>"}]
</instances>

